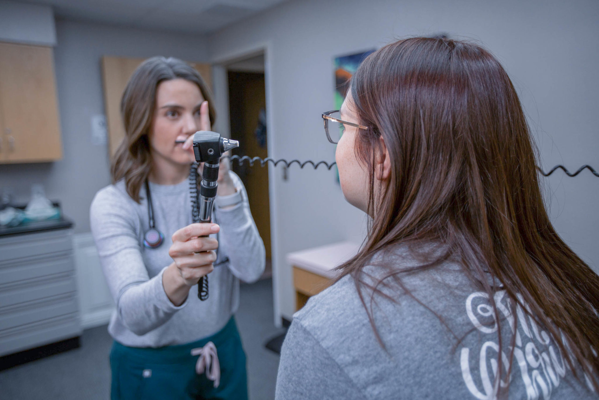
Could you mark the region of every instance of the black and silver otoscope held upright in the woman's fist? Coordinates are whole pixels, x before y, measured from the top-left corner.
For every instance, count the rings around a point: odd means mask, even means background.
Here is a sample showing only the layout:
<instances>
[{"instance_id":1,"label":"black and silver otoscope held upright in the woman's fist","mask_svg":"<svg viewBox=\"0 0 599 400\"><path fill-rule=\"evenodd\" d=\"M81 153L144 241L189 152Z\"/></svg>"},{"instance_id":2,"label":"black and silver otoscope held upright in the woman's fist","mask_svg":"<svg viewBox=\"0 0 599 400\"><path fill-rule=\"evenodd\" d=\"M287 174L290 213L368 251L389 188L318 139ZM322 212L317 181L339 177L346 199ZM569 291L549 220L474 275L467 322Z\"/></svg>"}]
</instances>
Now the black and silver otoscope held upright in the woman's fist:
<instances>
[{"instance_id":1,"label":"black and silver otoscope held upright in the woman's fist","mask_svg":"<svg viewBox=\"0 0 599 400\"><path fill-rule=\"evenodd\" d=\"M196 163L193 164L190 178L192 193L192 220L193 222L210 222L214 197L219 186L219 164L223 153L239 146L237 140L220 137L220 134L211 131L198 131L193 135L193 155ZM197 171L198 164L204 163L202 182L199 185L199 200L197 197ZM198 207L199 206L199 207ZM208 298L208 275L199 278L198 299Z\"/></svg>"}]
</instances>

